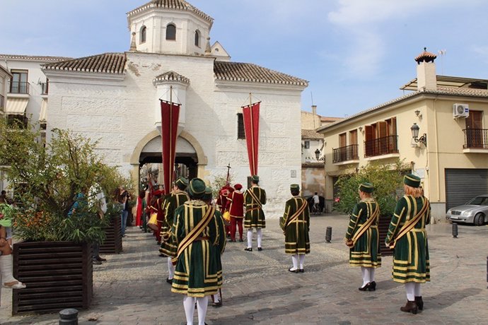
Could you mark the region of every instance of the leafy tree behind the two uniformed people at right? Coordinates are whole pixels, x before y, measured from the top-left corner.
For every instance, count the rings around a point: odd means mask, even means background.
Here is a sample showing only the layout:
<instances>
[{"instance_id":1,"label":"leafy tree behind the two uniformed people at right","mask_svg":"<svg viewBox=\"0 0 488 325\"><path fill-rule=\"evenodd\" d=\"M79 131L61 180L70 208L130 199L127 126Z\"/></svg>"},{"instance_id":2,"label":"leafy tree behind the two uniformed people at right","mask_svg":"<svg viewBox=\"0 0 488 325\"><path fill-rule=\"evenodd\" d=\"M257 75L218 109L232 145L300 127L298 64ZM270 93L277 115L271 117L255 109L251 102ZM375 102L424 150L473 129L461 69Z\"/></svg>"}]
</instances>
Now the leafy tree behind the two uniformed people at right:
<instances>
[{"instance_id":1,"label":"leafy tree behind the two uniformed people at right","mask_svg":"<svg viewBox=\"0 0 488 325\"><path fill-rule=\"evenodd\" d=\"M352 213L354 204L359 202L359 184L370 182L374 186L373 197L380 206L381 215L392 215L397 202L397 190L402 188L403 175L408 166L397 160L391 165L366 165L356 174L339 177L335 186L339 189L334 209L342 213Z\"/></svg>"}]
</instances>

